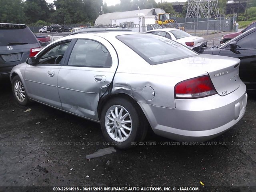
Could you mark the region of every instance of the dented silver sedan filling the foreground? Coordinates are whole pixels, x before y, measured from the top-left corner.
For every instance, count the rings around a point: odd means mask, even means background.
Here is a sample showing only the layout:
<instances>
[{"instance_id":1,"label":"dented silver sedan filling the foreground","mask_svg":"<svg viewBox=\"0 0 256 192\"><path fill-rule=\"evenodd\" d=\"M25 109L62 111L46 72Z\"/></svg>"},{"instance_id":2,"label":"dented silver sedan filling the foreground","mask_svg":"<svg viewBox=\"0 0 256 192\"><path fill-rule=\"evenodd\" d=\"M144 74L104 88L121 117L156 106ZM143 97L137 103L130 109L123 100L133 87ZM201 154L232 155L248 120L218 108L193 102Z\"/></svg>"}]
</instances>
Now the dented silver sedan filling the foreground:
<instances>
[{"instance_id":1,"label":"dented silver sedan filling the foreground","mask_svg":"<svg viewBox=\"0 0 256 192\"><path fill-rule=\"evenodd\" d=\"M19 104L37 101L99 122L117 148L142 141L148 124L175 140L208 140L245 113L239 59L197 54L162 36L76 34L26 63L10 75Z\"/></svg>"}]
</instances>

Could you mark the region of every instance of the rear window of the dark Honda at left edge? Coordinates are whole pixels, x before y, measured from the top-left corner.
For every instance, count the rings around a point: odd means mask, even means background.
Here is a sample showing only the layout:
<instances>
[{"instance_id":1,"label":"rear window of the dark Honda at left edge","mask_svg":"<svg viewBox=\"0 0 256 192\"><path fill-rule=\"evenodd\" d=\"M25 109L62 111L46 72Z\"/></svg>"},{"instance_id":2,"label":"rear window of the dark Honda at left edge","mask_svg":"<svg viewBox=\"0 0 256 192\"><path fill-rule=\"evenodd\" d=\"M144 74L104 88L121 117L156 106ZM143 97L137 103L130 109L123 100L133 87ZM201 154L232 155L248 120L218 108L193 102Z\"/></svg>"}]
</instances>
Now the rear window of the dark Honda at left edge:
<instances>
[{"instance_id":1,"label":"rear window of the dark Honda at left edge","mask_svg":"<svg viewBox=\"0 0 256 192\"><path fill-rule=\"evenodd\" d=\"M26 25L0 24L0 46L34 43L36 37Z\"/></svg>"}]
</instances>

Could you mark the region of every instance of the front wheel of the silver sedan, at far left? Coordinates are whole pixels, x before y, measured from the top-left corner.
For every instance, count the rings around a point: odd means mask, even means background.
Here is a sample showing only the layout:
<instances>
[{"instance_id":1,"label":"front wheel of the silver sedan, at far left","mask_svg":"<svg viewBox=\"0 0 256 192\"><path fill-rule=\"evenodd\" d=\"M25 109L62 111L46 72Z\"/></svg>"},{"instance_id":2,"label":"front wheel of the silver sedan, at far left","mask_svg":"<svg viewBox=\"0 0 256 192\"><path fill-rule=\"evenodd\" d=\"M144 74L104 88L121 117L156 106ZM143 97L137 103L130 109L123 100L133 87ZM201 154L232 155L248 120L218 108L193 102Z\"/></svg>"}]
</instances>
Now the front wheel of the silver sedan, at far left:
<instances>
[{"instance_id":1,"label":"front wheel of the silver sedan, at far left","mask_svg":"<svg viewBox=\"0 0 256 192\"><path fill-rule=\"evenodd\" d=\"M28 99L28 95L24 89L22 81L19 76L15 76L12 79L12 93L14 94L14 98L18 102L18 104L27 106L30 104L30 100Z\"/></svg>"}]
</instances>

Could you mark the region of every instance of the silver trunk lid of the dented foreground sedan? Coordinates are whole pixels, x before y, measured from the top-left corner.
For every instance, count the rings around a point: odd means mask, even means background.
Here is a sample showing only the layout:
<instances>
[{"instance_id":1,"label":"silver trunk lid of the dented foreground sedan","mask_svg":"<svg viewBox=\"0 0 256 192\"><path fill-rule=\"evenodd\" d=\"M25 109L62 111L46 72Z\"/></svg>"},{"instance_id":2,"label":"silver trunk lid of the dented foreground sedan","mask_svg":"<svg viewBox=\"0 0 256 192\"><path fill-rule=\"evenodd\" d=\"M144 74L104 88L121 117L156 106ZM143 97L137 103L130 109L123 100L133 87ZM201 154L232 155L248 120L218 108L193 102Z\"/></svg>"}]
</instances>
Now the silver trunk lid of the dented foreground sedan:
<instances>
[{"instance_id":1,"label":"silver trunk lid of the dented foreground sedan","mask_svg":"<svg viewBox=\"0 0 256 192\"><path fill-rule=\"evenodd\" d=\"M155 74L177 77L176 83L209 74L217 93L224 96L241 84L239 65L240 59L237 58L200 54L153 67Z\"/></svg>"}]
</instances>

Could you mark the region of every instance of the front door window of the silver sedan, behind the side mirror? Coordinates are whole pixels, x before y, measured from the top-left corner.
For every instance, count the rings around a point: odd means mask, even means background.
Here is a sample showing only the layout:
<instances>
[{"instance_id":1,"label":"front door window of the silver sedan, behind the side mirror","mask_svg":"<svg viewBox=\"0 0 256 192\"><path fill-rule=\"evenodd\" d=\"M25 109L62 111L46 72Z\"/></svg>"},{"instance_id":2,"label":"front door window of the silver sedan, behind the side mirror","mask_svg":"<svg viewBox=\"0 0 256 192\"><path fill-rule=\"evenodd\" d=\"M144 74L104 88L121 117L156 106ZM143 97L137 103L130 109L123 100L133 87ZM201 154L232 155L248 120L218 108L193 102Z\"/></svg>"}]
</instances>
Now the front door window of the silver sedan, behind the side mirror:
<instances>
[{"instance_id":1,"label":"front door window of the silver sedan, behind the side mirror","mask_svg":"<svg viewBox=\"0 0 256 192\"><path fill-rule=\"evenodd\" d=\"M50 50L46 50L45 53L39 56L39 64L60 64L70 41L58 43L55 46L51 47Z\"/></svg>"}]
</instances>

